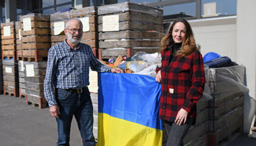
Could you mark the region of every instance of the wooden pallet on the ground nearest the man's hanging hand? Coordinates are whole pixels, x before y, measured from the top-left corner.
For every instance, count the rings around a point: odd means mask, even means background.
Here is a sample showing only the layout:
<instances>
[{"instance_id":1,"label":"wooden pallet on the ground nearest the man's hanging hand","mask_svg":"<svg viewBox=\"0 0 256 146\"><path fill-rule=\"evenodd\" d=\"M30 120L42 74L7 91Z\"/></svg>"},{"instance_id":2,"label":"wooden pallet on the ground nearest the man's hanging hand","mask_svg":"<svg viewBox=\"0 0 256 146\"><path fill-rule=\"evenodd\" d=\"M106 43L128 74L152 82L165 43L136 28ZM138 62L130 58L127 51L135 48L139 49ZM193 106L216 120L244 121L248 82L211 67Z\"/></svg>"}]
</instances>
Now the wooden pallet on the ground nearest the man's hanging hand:
<instances>
[{"instance_id":1,"label":"wooden pallet on the ground nearest the man's hanging hand","mask_svg":"<svg viewBox=\"0 0 256 146\"><path fill-rule=\"evenodd\" d=\"M27 105L32 104L33 107L38 106L40 109L48 107L48 103L44 97L26 94L25 99Z\"/></svg>"}]
</instances>

